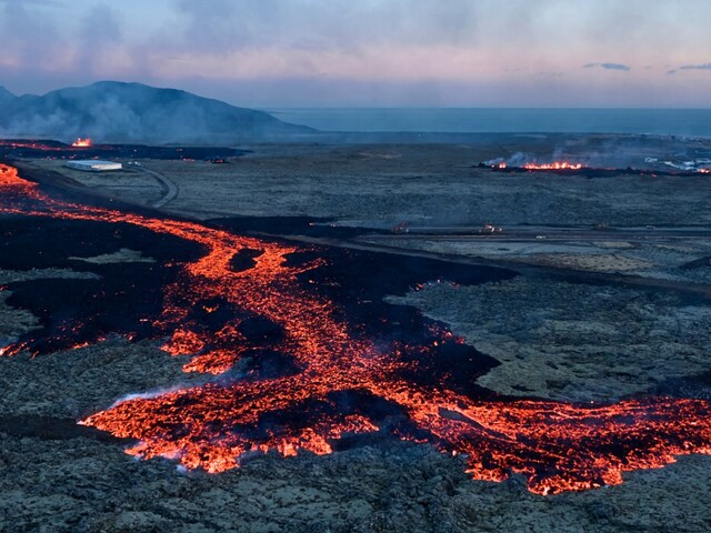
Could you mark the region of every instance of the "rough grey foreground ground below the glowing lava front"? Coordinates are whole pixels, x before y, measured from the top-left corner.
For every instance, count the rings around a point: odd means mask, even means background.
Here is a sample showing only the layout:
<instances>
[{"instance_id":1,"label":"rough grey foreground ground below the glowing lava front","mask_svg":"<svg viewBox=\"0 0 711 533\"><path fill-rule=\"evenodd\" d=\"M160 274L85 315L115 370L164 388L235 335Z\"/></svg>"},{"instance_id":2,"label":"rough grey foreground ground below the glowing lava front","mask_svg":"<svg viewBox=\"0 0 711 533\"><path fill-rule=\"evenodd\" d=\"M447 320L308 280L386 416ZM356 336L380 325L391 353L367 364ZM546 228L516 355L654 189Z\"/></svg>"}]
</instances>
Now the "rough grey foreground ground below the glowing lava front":
<instances>
[{"instance_id":1,"label":"rough grey foreground ground below the glowing lava front","mask_svg":"<svg viewBox=\"0 0 711 533\"><path fill-rule=\"evenodd\" d=\"M460 459L392 443L257 459L219 475L137 462L87 438L0 431L7 532L694 532L711 529L710 457L585 493L542 497L518 479L474 482Z\"/></svg>"}]
</instances>

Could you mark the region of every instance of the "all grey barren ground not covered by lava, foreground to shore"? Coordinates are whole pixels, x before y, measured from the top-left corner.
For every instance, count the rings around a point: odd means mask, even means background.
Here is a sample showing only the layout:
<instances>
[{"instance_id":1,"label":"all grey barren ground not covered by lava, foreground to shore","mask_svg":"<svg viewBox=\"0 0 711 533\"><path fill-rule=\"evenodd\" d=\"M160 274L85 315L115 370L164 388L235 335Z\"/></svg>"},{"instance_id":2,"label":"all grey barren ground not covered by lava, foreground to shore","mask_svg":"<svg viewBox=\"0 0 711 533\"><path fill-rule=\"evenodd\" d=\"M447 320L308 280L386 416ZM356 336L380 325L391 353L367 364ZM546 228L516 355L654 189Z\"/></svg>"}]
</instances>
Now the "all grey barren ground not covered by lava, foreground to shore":
<instances>
[{"instance_id":1,"label":"all grey barren ground not covered by lava, foreground to shore","mask_svg":"<svg viewBox=\"0 0 711 533\"><path fill-rule=\"evenodd\" d=\"M417 308L498 365L494 393L567 402L668 395L711 399L711 210L708 175L589 179L473 168L517 152L563 153L601 167L643 165L702 140L511 137L458 144L256 145L228 164L143 160L110 174L61 161L91 193L162 205L200 220L266 218L250 227L299 242L501 265L521 275L458 285L421 280L387 301ZM128 161L126 161L128 162ZM308 217L279 228L267 218ZM407 232L391 232L400 222ZM243 223L243 222L239 222ZM502 232L482 234L484 223ZM300 225L301 224L301 225ZM324 225L320 225L324 224ZM653 227L653 228L648 228ZM337 232L357 227L352 235ZM319 234L312 229L323 228ZM378 231L375 231L378 230ZM316 230L313 230L316 231ZM40 325L7 285L92 280L92 268L150 266L146 251L70 258L71 268L0 266L0 348ZM519 269L519 270L517 270ZM19 285L18 285L19 286ZM129 394L199 384L160 342L113 335L77 350L0 356L0 531L680 531L711 530L711 457L680 457L624 483L539 496L513 475L472 481L461 456L383 442L331 455L268 454L230 472L138 462L129 444L79 426Z\"/></svg>"}]
</instances>

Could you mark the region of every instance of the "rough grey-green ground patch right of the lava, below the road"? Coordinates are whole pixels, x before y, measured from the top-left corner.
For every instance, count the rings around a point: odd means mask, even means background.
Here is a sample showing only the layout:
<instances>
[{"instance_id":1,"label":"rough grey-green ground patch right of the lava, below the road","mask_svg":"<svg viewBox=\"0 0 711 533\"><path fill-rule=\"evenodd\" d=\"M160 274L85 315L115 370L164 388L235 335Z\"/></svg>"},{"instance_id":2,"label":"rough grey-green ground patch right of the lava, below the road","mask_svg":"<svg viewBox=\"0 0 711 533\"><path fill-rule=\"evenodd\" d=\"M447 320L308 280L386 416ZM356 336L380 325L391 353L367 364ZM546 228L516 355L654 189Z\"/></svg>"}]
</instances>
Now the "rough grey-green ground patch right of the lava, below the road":
<instances>
[{"instance_id":1,"label":"rough grey-green ground patch right of the lava, below the road","mask_svg":"<svg viewBox=\"0 0 711 533\"><path fill-rule=\"evenodd\" d=\"M711 398L711 388L692 380L711 372L711 306L704 302L524 278L428 284L389 301L445 322L500 361L479 383L502 394L608 402L689 380L678 393Z\"/></svg>"}]
</instances>

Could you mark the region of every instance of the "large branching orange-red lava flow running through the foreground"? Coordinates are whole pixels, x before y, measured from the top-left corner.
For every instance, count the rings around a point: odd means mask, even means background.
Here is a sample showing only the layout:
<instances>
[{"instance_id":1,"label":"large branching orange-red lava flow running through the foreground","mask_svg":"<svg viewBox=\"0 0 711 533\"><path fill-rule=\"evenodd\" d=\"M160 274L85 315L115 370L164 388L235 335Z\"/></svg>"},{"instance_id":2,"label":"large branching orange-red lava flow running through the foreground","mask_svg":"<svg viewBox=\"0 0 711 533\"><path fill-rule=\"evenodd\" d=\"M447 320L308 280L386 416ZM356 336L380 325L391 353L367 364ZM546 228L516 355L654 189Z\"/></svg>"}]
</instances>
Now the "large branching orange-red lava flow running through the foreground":
<instances>
[{"instance_id":1,"label":"large branching orange-red lava flow running through the foreground","mask_svg":"<svg viewBox=\"0 0 711 533\"><path fill-rule=\"evenodd\" d=\"M166 291L154 325L170 336L164 349L192 355L187 371L221 373L248 348L238 318L206 332L196 310L231 304L283 330L264 349L289 354L297 366L282 376L243 376L150 398L98 412L83 424L139 442L128 453L170 457L190 469L222 472L246 456L274 450L331 453L343 435L379 431L358 405L334 400L359 392L390 402L408 421L395 433L468 457L478 480L502 481L512 472L539 494L622 482L625 471L660 467L675 455L711 454L711 404L704 400L649 399L613 405L541 401L481 401L444 386L402 378L414 363L397 346L377 348L338 319L333 302L307 292L286 257L297 248L234 235L198 223L63 203L41 193L9 167L0 167L0 214L26 214L107 223L123 222L202 245ZM254 265L231 268L236 253L258 250ZM204 302L223 302L210 303ZM441 342L457 342L442 332ZM251 346L254 348L254 346ZM11 346L6 355L22 346ZM430 346L419 346L427 352ZM384 430L383 430L384 431Z\"/></svg>"}]
</instances>

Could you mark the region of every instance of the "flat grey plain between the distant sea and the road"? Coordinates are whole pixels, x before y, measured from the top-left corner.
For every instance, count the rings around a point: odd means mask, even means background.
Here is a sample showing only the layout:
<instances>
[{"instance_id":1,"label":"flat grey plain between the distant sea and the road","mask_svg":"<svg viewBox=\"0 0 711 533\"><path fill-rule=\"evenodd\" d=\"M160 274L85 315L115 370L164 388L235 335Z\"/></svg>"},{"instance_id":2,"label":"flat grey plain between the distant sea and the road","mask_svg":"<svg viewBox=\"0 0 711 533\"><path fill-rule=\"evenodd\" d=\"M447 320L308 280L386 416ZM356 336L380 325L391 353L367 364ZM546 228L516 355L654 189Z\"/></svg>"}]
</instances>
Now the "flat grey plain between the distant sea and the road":
<instances>
[{"instance_id":1,"label":"flat grey plain between the distant sea and the road","mask_svg":"<svg viewBox=\"0 0 711 533\"><path fill-rule=\"evenodd\" d=\"M711 224L708 177L588 179L544 173L501 174L472 165L517 152L540 161L568 155L593 165L640 167L645 157L679 159L681 151L711 151L709 141L644 137L521 135L477 138L460 144L356 144L252 147L230 164L143 161L179 188L164 210L201 219L236 214L310 215L390 228L411 223ZM591 155L591 154L594 154ZM160 197L150 177L126 171L96 175L60 170L89 187L150 203Z\"/></svg>"}]
</instances>

